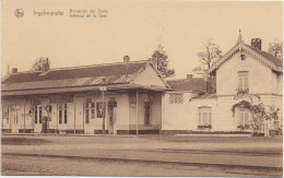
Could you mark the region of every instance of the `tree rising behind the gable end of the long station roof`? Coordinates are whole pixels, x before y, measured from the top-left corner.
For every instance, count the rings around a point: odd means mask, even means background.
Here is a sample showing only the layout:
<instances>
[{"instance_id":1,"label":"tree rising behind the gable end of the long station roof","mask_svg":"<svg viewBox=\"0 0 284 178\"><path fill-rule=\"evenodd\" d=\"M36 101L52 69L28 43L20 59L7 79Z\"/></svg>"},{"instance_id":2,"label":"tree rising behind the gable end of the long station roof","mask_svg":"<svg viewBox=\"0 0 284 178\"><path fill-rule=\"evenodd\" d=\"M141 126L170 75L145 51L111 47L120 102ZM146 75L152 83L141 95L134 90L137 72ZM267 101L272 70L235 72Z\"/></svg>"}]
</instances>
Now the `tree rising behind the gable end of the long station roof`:
<instances>
[{"instance_id":1,"label":"tree rising behind the gable end of the long station roof","mask_svg":"<svg viewBox=\"0 0 284 178\"><path fill-rule=\"evenodd\" d=\"M155 68L161 72L164 78L169 78L175 75L175 70L169 69L168 67L168 56L164 50L164 47L158 45L157 49L153 52L152 57L149 58Z\"/></svg>"}]
</instances>

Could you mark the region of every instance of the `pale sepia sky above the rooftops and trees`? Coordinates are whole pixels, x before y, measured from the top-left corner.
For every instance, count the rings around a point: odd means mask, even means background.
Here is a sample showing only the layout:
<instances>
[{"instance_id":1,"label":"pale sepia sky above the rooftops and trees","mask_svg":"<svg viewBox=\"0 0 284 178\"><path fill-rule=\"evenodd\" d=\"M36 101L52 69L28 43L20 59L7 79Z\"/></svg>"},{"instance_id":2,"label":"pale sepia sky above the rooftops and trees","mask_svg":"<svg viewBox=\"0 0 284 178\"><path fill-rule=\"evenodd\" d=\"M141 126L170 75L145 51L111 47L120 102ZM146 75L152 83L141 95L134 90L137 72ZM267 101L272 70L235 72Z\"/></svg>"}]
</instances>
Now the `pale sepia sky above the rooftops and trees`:
<instances>
[{"instance_id":1,"label":"pale sepia sky above the rooftops and trees","mask_svg":"<svg viewBox=\"0 0 284 178\"><path fill-rule=\"evenodd\" d=\"M197 54L210 38L223 54L239 29L247 44L261 38L263 50L283 39L281 1L2 0L1 5L1 75L8 66L31 70L39 57L48 57L51 68L121 62L123 56L147 60L162 45L175 79L182 79L200 64ZM70 10L91 9L96 17L70 17ZM107 17L98 17L98 9ZM63 15L36 15L43 11Z\"/></svg>"}]
</instances>

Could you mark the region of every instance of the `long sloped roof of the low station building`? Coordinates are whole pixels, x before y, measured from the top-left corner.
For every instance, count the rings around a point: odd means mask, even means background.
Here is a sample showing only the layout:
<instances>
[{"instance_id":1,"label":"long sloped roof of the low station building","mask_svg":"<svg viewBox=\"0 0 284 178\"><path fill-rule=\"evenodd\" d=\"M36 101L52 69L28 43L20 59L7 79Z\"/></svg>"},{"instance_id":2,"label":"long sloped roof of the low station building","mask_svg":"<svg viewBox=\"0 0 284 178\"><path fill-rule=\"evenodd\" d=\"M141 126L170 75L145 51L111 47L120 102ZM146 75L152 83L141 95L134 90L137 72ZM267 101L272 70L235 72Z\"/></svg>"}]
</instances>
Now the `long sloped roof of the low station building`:
<instances>
[{"instance_id":1,"label":"long sloped roof of the low station building","mask_svg":"<svg viewBox=\"0 0 284 178\"><path fill-rule=\"evenodd\" d=\"M147 61L126 63L97 64L78 68L50 69L40 71L19 72L2 81L2 95L12 91L32 91L47 88L67 88L74 91L82 86L129 84L143 69ZM104 80L105 83L104 83ZM73 88L71 88L73 87ZM66 91L66 90L64 90Z\"/></svg>"}]
</instances>

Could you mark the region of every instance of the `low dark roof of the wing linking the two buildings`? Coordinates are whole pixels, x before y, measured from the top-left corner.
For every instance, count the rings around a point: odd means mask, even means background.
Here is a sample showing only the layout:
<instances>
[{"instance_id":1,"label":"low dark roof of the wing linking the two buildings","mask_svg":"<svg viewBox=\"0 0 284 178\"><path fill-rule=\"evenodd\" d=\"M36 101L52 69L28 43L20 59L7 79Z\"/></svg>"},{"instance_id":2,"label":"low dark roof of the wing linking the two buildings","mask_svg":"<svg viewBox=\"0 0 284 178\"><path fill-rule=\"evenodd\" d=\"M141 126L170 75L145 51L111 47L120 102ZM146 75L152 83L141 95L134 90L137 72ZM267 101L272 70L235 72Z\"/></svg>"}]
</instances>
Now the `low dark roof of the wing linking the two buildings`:
<instances>
[{"instance_id":1,"label":"low dark roof of the wing linking the two buildings","mask_svg":"<svg viewBox=\"0 0 284 178\"><path fill-rule=\"evenodd\" d=\"M206 83L203 78L168 80L168 85L173 91L192 91L192 92L205 92ZM210 91L216 91L216 79L210 79Z\"/></svg>"}]
</instances>

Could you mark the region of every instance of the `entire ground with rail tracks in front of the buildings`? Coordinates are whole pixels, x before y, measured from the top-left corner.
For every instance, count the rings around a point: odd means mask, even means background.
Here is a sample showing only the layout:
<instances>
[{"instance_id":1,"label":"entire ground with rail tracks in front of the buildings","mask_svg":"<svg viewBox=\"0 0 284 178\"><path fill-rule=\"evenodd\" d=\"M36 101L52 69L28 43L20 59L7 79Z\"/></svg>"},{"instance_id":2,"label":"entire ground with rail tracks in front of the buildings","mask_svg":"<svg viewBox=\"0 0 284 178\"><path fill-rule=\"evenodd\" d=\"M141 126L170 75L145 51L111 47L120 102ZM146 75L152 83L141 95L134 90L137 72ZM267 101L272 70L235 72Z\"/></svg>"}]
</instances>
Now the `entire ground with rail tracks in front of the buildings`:
<instances>
[{"instance_id":1,"label":"entire ground with rail tracks in front of the buildings","mask_svg":"<svg viewBox=\"0 0 284 178\"><path fill-rule=\"evenodd\" d=\"M1 140L2 175L252 177L282 176L283 167L282 138L3 135ZM212 166L217 164L223 166Z\"/></svg>"}]
</instances>

